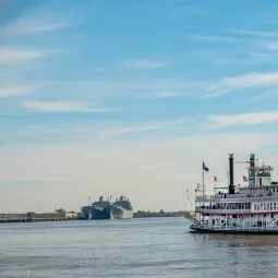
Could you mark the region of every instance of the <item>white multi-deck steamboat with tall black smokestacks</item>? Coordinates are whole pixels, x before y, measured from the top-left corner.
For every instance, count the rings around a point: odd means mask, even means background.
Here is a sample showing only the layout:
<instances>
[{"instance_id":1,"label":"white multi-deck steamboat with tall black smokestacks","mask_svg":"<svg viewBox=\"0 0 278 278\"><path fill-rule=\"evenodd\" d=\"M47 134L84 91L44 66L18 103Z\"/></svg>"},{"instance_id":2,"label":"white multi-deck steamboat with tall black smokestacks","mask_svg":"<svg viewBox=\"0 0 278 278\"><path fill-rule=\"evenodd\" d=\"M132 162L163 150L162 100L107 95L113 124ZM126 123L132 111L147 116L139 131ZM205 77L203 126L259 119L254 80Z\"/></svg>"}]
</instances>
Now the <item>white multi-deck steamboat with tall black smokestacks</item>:
<instances>
[{"instance_id":1,"label":"white multi-deck steamboat with tall black smokestacks","mask_svg":"<svg viewBox=\"0 0 278 278\"><path fill-rule=\"evenodd\" d=\"M195 218L190 227L200 233L261 233L278 234L278 182L271 181L274 168L259 164L250 155L247 183L235 186L233 154L229 155L229 183L215 188L214 195L205 195L203 162L203 190L195 190Z\"/></svg>"}]
</instances>

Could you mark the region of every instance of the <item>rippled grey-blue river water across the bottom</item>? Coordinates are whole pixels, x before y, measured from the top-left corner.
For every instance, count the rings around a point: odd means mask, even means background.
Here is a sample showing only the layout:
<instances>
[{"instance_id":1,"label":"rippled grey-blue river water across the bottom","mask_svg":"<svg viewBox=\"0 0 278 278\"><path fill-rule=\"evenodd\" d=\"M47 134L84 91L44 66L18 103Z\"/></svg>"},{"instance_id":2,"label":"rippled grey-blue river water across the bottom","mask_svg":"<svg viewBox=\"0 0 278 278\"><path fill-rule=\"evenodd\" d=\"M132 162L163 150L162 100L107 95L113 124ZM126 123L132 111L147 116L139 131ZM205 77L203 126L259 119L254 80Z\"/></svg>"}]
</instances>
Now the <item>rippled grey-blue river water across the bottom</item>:
<instances>
[{"instance_id":1,"label":"rippled grey-blue river water across the bottom","mask_svg":"<svg viewBox=\"0 0 278 278\"><path fill-rule=\"evenodd\" d=\"M278 235L189 233L183 218L0 226L0 277L278 277Z\"/></svg>"}]
</instances>

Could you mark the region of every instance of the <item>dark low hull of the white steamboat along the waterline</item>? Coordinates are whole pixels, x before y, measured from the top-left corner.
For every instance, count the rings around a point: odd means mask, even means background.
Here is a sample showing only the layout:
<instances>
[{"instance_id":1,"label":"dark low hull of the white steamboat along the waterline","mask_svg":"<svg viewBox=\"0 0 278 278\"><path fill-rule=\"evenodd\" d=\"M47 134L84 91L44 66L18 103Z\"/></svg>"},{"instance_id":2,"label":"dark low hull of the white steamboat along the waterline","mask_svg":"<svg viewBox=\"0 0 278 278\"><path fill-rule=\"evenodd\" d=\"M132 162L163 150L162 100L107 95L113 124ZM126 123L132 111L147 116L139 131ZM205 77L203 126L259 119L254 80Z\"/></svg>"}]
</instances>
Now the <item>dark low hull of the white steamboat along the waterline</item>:
<instances>
[{"instance_id":1,"label":"dark low hull of the white steamboat along the waterline","mask_svg":"<svg viewBox=\"0 0 278 278\"><path fill-rule=\"evenodd\" d=\"M245 234L277 234L278 235L278 227L277 228L259 228L256 229L254 227L250 228L223 228L223 229L211 229L211 228L206 228L202 227L200 225L192 225L191 227L191 232L196 232L196 233L245 233Z\"/></svg>"}]
</instances>

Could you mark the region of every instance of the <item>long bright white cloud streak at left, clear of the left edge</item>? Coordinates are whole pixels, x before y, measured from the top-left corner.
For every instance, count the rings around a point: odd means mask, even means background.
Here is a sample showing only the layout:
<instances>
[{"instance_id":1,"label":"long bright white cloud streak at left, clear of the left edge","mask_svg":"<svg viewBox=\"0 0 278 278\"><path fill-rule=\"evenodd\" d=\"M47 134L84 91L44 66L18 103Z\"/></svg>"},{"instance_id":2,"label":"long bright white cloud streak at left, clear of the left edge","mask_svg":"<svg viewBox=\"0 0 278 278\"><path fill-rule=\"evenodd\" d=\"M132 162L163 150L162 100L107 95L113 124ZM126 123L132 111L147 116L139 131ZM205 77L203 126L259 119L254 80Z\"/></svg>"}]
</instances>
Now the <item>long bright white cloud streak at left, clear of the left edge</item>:
<instances>
[{"instance_id":1,"label":"long bright white cloud streak at left, clear of the left edge","mask_svg":"<svg viewBox=\"0 0 278 278\"><path fill-rule=\"evenodd\" d=\"M37 112L106 113L116 111L112 109L81 101L25 101L22 106L29 111Z\"/></svg>"}]
</instances>

